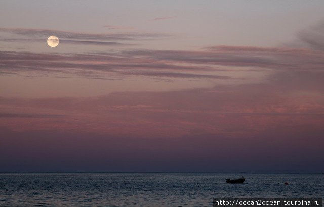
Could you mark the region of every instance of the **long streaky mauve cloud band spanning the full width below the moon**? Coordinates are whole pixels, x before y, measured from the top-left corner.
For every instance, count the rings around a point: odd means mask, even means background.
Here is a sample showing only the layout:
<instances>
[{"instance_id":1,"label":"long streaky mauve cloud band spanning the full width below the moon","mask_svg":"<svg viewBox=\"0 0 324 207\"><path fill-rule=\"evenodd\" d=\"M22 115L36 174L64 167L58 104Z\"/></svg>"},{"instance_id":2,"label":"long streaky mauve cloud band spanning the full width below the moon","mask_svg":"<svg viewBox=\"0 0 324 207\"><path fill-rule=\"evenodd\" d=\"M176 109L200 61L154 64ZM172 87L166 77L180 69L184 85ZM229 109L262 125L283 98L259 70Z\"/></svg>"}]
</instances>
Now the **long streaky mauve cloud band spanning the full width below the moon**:
<instances>
[{"instance_id":1,"label":"long streaky mauve cloud band spanning the full width below the moon","mask_svg":"<svg viewBox=\"0 0 324 207\"><path fill-rule=\"evenodd\" d=\"M70 40L63 40L70 41ZM73 41L73 40L71 40ZM84 41L96 43L96 41ZM114 45L114 42L106 42ZM81 75L89 78L110 76L148 76L166 78L231 78L214 71L323 71L324 53L311 49L287 47L208 46L203 50L120 50L118 53L38 54L27 52L0 52L0 72L21 73L43 71ZM224 69L222 66L230 66ZM69 70L66 70L69 69ZM189 72L190 71L190 72ZM33 74L29 74L33 75ZM111 78L111 77L109 77ZM120 77L117 77L120 79Z\"/></svg>"}]
</instances>

